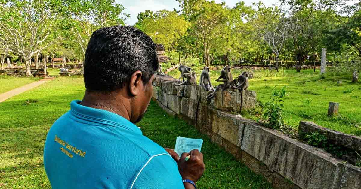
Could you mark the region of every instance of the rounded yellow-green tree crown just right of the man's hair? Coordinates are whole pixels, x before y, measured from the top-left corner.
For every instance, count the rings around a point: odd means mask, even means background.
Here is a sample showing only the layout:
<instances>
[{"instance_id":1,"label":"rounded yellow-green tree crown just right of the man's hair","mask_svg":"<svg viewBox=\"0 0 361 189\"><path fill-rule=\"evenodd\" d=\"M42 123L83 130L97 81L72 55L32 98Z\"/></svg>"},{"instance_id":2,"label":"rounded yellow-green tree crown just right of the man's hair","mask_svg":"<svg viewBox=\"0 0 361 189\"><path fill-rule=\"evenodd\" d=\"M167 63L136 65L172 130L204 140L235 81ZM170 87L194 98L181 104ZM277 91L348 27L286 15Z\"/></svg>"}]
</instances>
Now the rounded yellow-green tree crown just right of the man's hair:
<instances>
[{"instance_id":1,"label":"rounded yellow-green tree crown just right of the man's hair","mask_svg":"<svg viewBox=\"0 0 361 189\"><path fill-rule=\"evenodd\" d=\"M153 14L153 19L143 20L144 32L152 36L156 43L161 43L168 51L178 46L181 37L187 35L190 23L175 11L160 10ZM157 32L157 35L154 35Z\"/></svg>"}]
</instances>

